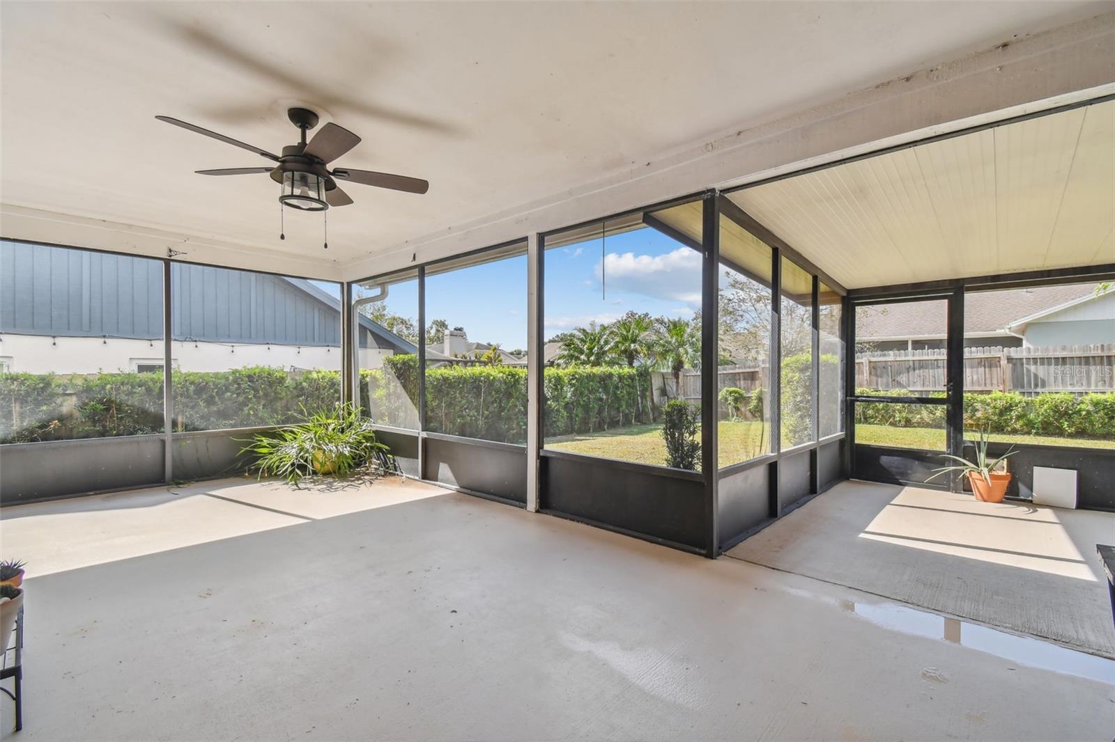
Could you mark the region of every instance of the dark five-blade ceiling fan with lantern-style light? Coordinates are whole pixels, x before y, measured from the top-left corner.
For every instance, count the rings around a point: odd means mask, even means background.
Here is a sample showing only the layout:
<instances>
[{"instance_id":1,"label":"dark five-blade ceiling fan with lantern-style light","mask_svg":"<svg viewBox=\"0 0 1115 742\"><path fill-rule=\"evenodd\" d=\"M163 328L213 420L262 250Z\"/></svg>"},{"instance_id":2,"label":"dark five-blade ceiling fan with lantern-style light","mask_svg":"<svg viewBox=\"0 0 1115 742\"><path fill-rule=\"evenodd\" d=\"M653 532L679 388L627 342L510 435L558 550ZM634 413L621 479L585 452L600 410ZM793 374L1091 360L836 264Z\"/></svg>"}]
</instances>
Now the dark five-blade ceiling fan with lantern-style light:
<instances>
[{"instance_id":1,"label":"dark five-blade ceiling fan with lantern-style light","mask_svg":"<svg viewBox=\"0 0 1115 742\"><path fill-rule=\"evenodd\" d=\"M266 167L230 167L196 172L201 175L253 175L268 173L271 175L271 179L282 184L282 193L279 196L279 202L284 206L304 212L323 212L330 206L347 206L351 204L352 199L347 193L340 189L337 180L348 180L377 188L391 188L392 191L405 191L417 194L424 194L429 189L428 182L419 178L410 178L405 175L356 170L347 167L334 167L330 170L327 167L329 163L360 144L360 137L342 126L329 123L321 127L321 130L314 134L312 139L307 141L306 133L318 125L318 115L306 108L291 108L287 111L287 117L291 124L301 130L302 137L298 144L283 147L282 156L169 116L156 116L155 118L167 124L181 126L190 131L204 134L207 137L231 144L241 149L246 149L248 152L254 152L256 155L274 160L278 165L269 165Z\"/></svg>"}]
</instances>

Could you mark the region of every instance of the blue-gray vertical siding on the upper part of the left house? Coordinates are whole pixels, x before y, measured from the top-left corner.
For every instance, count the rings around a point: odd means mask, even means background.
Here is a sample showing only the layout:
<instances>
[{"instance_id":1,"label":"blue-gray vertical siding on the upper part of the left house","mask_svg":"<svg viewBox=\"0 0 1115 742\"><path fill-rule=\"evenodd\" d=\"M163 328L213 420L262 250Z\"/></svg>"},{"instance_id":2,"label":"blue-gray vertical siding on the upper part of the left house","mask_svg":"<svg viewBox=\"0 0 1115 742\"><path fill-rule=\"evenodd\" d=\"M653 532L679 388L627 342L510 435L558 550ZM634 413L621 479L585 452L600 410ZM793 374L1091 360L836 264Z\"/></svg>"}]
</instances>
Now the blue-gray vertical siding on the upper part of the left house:
<instances>
[{"instance_id":1,"label":"blue-gray vertical siding on the upper part of the left house","mask_svg":"<svg viewBox=\"0 0 1115 742\"><path fill-rule=\"evenodd\" d=\"M175 263L171 279L176 340L340 345L337 306L282 276ZM0 332L161 339L162 262L0 242Z\"/></svg>"}]
</instances>

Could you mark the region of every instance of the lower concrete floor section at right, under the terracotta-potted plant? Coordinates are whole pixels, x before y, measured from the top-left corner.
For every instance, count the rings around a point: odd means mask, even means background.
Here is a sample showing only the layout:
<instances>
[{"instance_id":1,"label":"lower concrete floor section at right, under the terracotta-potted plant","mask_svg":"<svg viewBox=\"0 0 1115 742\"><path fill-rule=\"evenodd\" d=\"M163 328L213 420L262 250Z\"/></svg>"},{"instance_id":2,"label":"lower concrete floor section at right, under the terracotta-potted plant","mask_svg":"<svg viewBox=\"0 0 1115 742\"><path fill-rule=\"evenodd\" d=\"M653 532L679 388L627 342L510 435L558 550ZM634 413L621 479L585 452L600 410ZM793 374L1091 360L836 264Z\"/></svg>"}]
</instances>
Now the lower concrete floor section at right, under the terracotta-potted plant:
<instances>
[{"instance_id":1,"label":"lower concrete floor section at right, under the terracotta-potted plant","mask_svg":"<svg viewBox=\"0 0 1115 742\"><path fill-rule=\"evenodd\" d=\"M728 555L1115 657L1115 512L843 481Z\"/></svg>"}]
</instances>

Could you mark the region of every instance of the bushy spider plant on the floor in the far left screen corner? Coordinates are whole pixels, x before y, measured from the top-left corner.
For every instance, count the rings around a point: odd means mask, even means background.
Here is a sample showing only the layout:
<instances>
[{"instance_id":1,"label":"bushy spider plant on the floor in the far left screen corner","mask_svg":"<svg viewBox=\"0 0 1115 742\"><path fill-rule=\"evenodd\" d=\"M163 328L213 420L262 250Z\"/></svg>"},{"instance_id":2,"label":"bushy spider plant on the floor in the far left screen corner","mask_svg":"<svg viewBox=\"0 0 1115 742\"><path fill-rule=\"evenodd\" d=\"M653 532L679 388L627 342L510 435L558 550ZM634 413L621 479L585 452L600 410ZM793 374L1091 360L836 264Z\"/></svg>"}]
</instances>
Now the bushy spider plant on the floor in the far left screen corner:
<instances>
[{"instance_id":1,"label":"bushy spider plant on the floor in the far left screen corner","mask_svg":"<svg viewBox=\"0 0 1115 742\"><path fill-rule=\"evenodd\" d=\"M261 477L282 477L294 486L308 475L345 477L361 467L379 472L388 465L388 448L376 440L371 420L352 403L259 433L241 452L255 457Z\"/></svg>"}]
</instances>

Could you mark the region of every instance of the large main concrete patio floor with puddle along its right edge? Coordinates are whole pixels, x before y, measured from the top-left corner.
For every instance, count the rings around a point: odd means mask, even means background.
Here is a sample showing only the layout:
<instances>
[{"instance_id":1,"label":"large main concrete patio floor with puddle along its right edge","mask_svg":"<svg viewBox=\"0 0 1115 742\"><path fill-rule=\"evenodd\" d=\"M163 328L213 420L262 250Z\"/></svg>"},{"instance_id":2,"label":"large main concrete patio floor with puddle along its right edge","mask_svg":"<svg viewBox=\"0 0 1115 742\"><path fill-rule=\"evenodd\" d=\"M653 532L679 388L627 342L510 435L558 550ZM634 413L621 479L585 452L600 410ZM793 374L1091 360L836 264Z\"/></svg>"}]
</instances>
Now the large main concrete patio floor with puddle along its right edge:
<instances>
[{"instance_id":1,"label":"large main concrete patio floor with puddle along its right edge","mask_svg":"<svg viewBox=\"0 0 1115 742\"><path fill-rule=\"evenodd\" d=\"M1112 661L808 577L413 482L176 492L0 511L30 574L11 739L1115 732Z\"/></svg>"}]
</instances>

